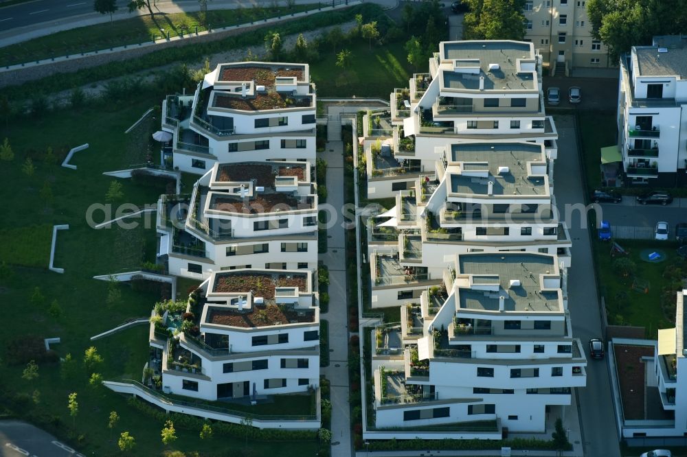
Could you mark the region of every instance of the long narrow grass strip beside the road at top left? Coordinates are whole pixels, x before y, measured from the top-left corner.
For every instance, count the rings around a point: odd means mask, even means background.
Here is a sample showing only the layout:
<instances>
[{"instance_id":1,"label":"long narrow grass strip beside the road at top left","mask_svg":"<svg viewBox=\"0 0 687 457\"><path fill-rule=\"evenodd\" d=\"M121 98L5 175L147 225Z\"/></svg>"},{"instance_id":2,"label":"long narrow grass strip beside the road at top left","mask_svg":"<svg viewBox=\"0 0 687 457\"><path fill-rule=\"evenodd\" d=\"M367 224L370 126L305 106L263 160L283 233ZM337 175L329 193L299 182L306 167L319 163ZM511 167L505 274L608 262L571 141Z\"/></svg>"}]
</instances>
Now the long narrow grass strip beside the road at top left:
<instances>
[{"instance_id":1,"label":"long narrow grass strip beside the road at top left","mask_svg":"<svg viewBox=\"0 0 687 457\"><path fill-rule=\"evenodd\" d=\"M295 5L293 11L300 12L312 8L317 8L317 5ZM196 26L199 31L205 30L206 27L203 23L209 23L213 29L216 29L249 23L251 19L279 16L286 11L288 8L284 7L216 10L207 12L206 21L201 20L200 12L158 13L155 14L155 19L152 19L149 14L134 16L122 21L65 30L0 48L0 66L4 67L67 54L80 54L110 47L138 45L152 40L153 35L161 38L160 28L169 32L170 36L178 36L181 32L184 34L195 33Z\"/></svg>"}]
</instances>

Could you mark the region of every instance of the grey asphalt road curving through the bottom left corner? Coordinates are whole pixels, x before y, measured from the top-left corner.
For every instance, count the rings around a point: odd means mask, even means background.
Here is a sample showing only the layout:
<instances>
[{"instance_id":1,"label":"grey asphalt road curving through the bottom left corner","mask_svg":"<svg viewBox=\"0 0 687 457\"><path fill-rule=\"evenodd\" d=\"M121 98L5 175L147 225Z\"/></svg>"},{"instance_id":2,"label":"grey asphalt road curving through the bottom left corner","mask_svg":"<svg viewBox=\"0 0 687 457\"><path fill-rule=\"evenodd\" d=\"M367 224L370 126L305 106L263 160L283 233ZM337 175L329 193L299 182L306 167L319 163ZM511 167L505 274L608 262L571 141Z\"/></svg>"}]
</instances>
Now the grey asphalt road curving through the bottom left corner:
<instances>
[{"instance_id":1,"label":"grey asphalt road curving through the bottom left corner","mask_svg":"<svg viewBox=\"0 0 687 457\"><path fill-rule=\"evenodd\" d=\"M40 428L21 421L0 421L1 457L83 457Z\"/></svg>"}]
</instances>

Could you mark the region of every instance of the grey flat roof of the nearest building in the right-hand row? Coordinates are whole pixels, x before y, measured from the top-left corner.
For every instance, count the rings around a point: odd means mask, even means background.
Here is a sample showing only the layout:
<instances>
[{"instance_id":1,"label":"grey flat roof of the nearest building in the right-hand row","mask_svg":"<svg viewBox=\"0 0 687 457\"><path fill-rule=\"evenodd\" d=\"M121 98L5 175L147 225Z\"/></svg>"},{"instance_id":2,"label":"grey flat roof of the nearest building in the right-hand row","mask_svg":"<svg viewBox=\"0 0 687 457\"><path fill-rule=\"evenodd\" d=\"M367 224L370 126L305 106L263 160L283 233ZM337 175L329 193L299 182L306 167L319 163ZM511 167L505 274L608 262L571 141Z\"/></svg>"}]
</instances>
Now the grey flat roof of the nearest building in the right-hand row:
<instances>
[{"instance_id":1,"label":"grey flat roof of the nearest building in the right-hand row","mask_svg":"<svg viewBox=\"0 0 687 457\"><path fill-rule=\"evenodd\" d=\"M538 253L489 253L458 255L458 274L489 275L499 278L499 290L460 288L461 309L499 311L499 297L504 296L506 312L563 312L560 288L542 290L541 275L556 277L556 259ZM510 281L520 281L511 287ZM480 281L493 285L493 281Z\"/></svg>"}]
</instances>

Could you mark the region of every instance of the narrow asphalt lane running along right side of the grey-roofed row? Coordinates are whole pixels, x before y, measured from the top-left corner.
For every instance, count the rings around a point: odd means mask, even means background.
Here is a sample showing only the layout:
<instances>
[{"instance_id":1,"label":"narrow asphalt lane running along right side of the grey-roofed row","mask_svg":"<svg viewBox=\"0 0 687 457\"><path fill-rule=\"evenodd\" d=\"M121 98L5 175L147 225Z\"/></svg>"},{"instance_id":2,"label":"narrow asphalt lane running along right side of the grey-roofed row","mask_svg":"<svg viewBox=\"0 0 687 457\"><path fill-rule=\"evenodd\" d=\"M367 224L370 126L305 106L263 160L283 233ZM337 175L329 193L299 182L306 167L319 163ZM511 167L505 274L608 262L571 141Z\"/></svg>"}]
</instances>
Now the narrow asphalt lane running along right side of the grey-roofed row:
<instances>
[{"instance_id":1,"label":"narrow asphalt lane running along right side of the grey-roofed row","mask_svg":"<svg viewBox=\"0 0 687 457\"><path fill-rule=\"evenodd\" d=\"M557 116L559 154L554 165L556 204L565 217L566 204L584 202L580 160L572 116ZM579 213L566 220L572 238L572 266L568 270L568 309L572 333L587 351L587 387L578 388L580 422L585 456L620 457L616 417L611 403L611 384L605 361L589 358L587 341L601 335L600 307L592 261L589 230L581 224ZM593 234L594 235L594 234Z\"/></svg>"}]
</instances>

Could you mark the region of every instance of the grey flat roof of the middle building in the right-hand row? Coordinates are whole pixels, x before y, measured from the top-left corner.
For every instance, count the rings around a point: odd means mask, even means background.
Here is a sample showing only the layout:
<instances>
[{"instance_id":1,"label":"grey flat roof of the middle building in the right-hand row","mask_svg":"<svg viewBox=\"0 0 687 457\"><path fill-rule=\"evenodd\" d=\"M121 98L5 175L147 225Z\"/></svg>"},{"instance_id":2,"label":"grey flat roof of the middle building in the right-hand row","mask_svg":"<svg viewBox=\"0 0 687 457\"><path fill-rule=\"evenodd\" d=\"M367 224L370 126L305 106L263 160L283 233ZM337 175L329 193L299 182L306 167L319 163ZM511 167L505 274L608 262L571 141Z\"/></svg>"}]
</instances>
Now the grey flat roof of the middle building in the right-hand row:
<instances>
[{"instance_id":1,"label":"grey flat roof of the middle building in the right-hand row","mask_svg":"<svg viewBox=\"0 0 687 457\"><path fill-rule=\"evenodd\" d=\"M528 163L541 165L543 170L532 172ZM447 173L454 194L488 195L491 182L491 195L546 196L549 189L545 167L543 146L539 144L460 143L451 145Z\"/></svg>"}]
</instances>

